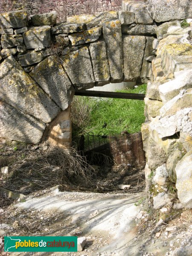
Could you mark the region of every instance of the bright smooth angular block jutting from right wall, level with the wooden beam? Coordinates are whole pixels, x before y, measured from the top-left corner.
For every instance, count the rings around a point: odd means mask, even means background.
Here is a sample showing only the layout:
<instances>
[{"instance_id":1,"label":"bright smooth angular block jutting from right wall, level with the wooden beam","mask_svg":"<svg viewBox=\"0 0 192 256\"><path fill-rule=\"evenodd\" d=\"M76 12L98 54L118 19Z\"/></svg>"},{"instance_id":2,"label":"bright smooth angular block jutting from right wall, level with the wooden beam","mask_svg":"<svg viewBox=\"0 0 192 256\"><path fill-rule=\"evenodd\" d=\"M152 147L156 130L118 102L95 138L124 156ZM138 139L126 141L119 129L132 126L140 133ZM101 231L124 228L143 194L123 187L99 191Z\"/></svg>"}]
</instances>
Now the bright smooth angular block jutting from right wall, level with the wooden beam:
<instances>
[{"instance_id":1,"label":"bright smooth angular block jutting from right wall, level with the wooden beam","mask_svg":"<svg viewBox=\"0 0 192 256\"><path fill-rule=\"evenodd\" d=\"M192 87L192 70L180 71L175 73L175 79L159 87L160 97L165 104L170 99L173 99L180 90L189 89Z\"/></svg>"}]
</instances>

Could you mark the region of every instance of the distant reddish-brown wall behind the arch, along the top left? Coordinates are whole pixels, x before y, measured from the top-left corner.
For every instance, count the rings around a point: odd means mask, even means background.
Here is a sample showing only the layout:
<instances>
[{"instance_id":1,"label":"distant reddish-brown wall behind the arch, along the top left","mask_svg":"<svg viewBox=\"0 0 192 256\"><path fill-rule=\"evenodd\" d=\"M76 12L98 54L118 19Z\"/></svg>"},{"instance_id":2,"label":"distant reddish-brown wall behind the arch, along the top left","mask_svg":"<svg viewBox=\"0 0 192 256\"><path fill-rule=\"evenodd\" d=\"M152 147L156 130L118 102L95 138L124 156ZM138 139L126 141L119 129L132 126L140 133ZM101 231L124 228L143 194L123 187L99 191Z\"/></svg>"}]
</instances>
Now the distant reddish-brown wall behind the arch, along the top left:
<instances>
[{"instance_id":1,"label":"distant reddish-brown wall behind the arch, along the top left","mask_svg":"<svg viewBox=\"0 0 192 256\"><path fill-rule=\"evenodd\" d=\"M121 9L122 0L3 0L0 12L27 9L29 14L56 11L58 19L80 14L96 14Z\"/></svg>"}]
</instances>

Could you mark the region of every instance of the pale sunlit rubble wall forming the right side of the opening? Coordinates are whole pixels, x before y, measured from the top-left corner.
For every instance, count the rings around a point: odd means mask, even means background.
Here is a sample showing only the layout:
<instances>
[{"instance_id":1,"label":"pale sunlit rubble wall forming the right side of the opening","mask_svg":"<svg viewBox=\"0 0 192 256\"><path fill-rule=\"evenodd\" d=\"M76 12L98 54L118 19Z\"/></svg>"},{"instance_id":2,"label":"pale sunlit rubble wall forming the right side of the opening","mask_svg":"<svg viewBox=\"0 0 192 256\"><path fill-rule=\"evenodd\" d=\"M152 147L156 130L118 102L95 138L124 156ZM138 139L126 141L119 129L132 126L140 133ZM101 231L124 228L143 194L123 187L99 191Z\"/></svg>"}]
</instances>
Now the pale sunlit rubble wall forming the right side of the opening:
<instances>
[{"instance_id":1,"label":"pale sunlit rubble wall forming the right side of the opening","mask_svg":"<svg viewBox=\"0 0 192 256\"><path fill-rule=\"evenodd\" d=\"M145 177L155 209L192 208L191 32L192 27L182 29L178 21L171 21L158 26L153 41L157 58L152 60L142 135ZM170 200L173 183L182 206Z\"/></svg>"}]
</instances>

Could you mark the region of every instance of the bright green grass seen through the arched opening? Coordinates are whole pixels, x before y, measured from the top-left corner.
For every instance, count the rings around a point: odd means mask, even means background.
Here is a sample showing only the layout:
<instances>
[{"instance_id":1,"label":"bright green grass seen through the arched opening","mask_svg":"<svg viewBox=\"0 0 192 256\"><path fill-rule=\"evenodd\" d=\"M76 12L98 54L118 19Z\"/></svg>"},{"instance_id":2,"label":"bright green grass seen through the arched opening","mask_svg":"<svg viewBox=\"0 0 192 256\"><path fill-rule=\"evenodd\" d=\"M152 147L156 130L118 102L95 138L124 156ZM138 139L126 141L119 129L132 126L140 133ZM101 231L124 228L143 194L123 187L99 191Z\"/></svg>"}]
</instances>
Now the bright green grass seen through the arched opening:
<instances>
[{"instance_id":1,"label":"bright green grass seen through the arched opening","mask_svg":"<svg viewBox=\"0 0 192 256\"><path fill-rule=\"evenodd\" d=\"M134 89L118 90L123 93L145 93L146 84ZM88 98L88 99L86 99ZM132 99L90 98L84 97L84 101L92 106L90 121L84 127L84 131L92 131L98 134L121 134L122 131L135 133L141 130L141 124L145 121L144 101ZM102 125L106 122L106 128Z\"/></svg>"}]
</instances>

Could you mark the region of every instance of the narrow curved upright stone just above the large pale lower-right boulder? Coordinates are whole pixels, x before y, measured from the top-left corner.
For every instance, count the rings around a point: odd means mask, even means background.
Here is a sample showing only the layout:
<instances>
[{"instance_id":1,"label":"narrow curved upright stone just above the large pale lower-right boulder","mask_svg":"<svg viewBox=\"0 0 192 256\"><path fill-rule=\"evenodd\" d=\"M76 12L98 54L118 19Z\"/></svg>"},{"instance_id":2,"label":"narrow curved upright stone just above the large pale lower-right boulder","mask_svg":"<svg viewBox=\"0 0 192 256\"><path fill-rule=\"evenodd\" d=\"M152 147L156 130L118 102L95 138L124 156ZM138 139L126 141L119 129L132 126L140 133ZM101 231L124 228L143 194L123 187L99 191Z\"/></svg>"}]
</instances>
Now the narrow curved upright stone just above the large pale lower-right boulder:
<instances>
[{"instance_id":1,"label":"narrow curved upright stone just above the large pale lower-right boulder","mask_svg":"<svg viewBox=\"0 0 192 256\"><path fill-rule=\"evenodd\" d=\"M183 148L182 143L175 143L174 148L167 159L167 171L169 173L169 180L176 183L177 175L175 172L175 166L185 155L186 150Z\"/></svg>"}]
</instances>

